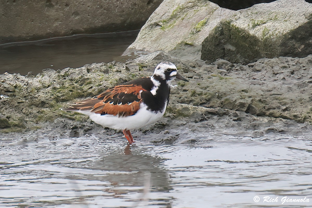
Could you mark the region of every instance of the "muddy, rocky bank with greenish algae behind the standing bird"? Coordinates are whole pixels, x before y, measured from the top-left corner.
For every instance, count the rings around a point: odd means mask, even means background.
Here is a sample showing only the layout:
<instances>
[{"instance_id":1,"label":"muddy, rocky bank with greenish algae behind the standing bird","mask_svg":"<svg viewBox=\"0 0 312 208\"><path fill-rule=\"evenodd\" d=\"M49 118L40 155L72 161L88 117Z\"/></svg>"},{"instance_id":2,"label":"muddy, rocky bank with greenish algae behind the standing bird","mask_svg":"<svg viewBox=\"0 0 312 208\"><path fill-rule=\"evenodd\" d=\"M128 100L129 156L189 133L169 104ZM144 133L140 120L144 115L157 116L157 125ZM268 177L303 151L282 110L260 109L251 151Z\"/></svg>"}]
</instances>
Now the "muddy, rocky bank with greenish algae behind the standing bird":
<instances>
[{"instance_id":1,"label":"muddy, rocky bank with greenish algae behind the standing bird","mask_svg":"<svg viewBox=\"0 0 312 208\"><path fill-rule=\"evenodd\" d=\"M248 65L226 60L183 62L154 52L124 63L0 75L0 135L51 138L109 132L88 117L62 111L67 102L97 95L119 83L152 75L160 61L172 61L189 82L178 81L163 119L136 135L153 141L196 141L192 132L258 137L311 131L312 55L259 59ZM162 135L159 137L159 134ZM105 135L105 133L103 134ZM180 140L179 140L180 141Z\"/></svg>"}]
</instances>

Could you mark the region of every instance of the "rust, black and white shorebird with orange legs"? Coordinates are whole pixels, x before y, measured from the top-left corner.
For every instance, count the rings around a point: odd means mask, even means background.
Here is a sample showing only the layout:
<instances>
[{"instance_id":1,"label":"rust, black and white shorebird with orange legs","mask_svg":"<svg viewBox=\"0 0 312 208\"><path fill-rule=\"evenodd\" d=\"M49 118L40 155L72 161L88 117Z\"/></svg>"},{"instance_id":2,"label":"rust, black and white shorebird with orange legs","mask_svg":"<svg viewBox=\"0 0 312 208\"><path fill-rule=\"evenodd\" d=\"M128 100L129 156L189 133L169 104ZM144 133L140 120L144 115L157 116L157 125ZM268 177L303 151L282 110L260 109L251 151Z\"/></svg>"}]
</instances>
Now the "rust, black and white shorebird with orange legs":
<instances>
[{"instance_id":1,"label":"rust, black and white shorebird with orange legs","mask_svg":"<svg viewBox=\"0 0 312 208\"><path fill-rule=\"evenodd\" d=\"M174 79L188 82L171 62L159 63L154 74L116 85L103 93L76 103L66 111L88 115L103 127L122 130L131 145L132 130L143 128L163 117Z\"/></svg>"}]
</instances>

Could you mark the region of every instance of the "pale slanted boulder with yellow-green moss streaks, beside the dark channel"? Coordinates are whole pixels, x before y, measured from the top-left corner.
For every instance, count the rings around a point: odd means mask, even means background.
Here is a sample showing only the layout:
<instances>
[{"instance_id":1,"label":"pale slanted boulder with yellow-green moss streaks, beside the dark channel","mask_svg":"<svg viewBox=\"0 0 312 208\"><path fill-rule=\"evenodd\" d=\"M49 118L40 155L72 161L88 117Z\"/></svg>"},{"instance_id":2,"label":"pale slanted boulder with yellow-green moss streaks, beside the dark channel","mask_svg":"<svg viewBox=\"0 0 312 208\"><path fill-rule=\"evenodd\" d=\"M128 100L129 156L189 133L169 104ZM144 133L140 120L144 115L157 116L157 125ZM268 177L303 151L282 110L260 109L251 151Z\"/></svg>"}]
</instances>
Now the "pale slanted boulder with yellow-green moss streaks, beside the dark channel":
<instances>
[{"instance_id":1,"label":"pale slanted boulder with yellow-green moss streaks, beside the dark channel","mask_svg":"<svg viewBox=\"0 0 312 208\"><path fill-rule=\"evenodd\" d=\"M209 31L234 12L209 1L164 0L124 55L166 51L184 60L198 59Z\"/></svg>"}]
</instances>

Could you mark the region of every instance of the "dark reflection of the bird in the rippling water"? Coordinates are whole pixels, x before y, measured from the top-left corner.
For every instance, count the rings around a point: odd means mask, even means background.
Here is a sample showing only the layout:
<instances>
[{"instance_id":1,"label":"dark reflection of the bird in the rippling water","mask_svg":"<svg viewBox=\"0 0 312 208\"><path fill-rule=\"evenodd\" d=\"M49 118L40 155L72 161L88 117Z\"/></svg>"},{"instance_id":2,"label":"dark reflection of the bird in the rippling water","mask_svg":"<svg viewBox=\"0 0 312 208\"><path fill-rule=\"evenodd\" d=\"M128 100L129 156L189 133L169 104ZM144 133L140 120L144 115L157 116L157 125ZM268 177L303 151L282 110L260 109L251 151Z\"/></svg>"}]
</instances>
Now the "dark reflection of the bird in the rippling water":
<instances>
[{"instance_id":1,"label":"dark reflection of the bird in the rippling water","mask_svg":"<svg viewBox=\"0 0 312 208\"><path fill-rule=\"evenodd\" d=\"M102 155L90 167L105 172L93 177L100 181L109 181L110 186L103 191L114 198L129 200L129 196L134 196L130 201L141 206L144 201L155 197L153 192L156 194L171 189L168 172L162 167L164 159L160 157L145 154L139 147L129 144L123 151L115 150L109 154L103 152ZM163 203L168 203L170 207L171 202L172 199L168 199Z\"/></svg>"}]
</instances>

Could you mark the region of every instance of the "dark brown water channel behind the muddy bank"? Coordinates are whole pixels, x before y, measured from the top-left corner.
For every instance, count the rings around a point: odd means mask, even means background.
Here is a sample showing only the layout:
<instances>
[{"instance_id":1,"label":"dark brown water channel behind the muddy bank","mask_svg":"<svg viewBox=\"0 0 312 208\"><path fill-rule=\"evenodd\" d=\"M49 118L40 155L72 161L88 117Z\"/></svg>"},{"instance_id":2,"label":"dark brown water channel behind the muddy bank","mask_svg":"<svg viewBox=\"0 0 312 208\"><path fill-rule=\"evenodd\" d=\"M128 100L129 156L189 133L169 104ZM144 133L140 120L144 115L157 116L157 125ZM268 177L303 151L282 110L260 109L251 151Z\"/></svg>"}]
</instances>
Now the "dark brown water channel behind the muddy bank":
<instances>
[{"instance_id":1,"label":"dark brown water channel behind the muddy bank","mask_svg":"<svg viewBox=\"0 0 312 208\"><path fill-rule=\"evenodd\" d=\"M85 64L125 61L121 56L135 40L139 31L76 35L42 41L0 45L0 74L29 71L38 74L42 69L78 68Z\"/></svg>"}]
</instances>

